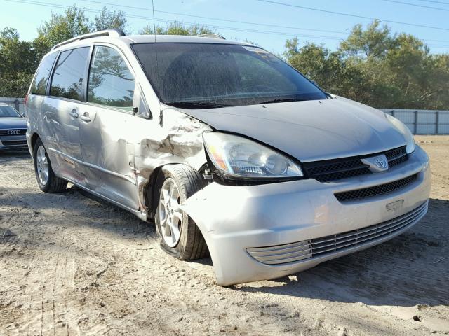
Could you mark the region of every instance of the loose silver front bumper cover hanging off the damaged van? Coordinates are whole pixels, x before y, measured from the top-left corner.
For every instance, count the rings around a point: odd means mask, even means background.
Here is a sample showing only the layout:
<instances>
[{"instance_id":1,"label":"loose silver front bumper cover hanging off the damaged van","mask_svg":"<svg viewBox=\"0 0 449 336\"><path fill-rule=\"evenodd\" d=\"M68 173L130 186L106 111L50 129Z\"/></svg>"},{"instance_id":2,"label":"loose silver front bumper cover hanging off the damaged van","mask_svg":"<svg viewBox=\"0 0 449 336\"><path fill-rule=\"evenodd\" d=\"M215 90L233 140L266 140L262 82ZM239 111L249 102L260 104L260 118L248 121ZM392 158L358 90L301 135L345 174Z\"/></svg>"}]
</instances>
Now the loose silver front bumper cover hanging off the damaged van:
<instances>
[{"instance_id":1,"label":"loose silver front bumper cover hanging off the damaged van","mask_svg":"<svg viewBox=\"0 0 449 336\"><path fill-rule=\"evenodd\" d=\"M340 202L334 195L389 183L413 174L417 174L413 183L384 195L348 202ZM330 183L314 179L260 186L211 183L190 197L182 207L206 239L217 283L227 286L300 272L320 262L391 239L424 216L429 193L429 158L417 146L407 162L384 173ZM387 209L387 204L391 203L396 207ZM292 244L366 228L407 214L424 203L425 209L420 216L403 229L334 253L280 265L266 265L247 251L248 248Z\"/></svg>"}]
</instances>

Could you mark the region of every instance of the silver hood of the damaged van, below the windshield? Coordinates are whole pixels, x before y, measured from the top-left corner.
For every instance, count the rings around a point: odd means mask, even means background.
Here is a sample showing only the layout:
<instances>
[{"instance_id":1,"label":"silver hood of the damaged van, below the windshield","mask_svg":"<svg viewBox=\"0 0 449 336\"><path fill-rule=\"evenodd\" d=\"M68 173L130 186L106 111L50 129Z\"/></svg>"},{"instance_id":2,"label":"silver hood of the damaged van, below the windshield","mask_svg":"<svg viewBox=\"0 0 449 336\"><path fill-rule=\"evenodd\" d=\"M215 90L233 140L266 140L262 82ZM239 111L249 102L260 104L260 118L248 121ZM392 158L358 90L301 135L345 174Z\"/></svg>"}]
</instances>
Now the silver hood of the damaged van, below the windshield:
<instances>
[{"instance_id":1,"label":"silver hood of the damaged van, below the windshield","mask_svg":"<svg viewBox=\"0 0 449 336\"><path fill-rule=\"evenodd\" d=\"M178 110L215 130L246 135L302 162L378 153L406 144L382 111L342 97Z\"/></svg>"}]
</instances>

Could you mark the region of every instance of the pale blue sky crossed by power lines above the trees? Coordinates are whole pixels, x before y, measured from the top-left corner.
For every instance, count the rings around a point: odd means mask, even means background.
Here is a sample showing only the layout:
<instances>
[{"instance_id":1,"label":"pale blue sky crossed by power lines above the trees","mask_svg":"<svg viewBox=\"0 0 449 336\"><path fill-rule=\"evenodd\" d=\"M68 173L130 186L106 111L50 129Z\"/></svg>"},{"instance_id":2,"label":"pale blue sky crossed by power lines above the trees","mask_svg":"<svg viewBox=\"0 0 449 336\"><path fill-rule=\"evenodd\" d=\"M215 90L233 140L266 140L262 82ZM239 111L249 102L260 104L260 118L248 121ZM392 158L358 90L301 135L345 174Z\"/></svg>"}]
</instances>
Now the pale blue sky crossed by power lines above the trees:
<instances>
[{"instance_id":1,"label":"pale blue sky crossed by power lines above the trees","mask_svg":"<svg viewBox=\"0 0 449 336\"><path fill-rule=\"evenodd\" d=\"M39 6L32 3L21 3L23 0L0 0L0 29L10 26L18 29L24 39L36 37L36 29L44 20L50 18L51 10L62 13L64 8L57 6L81 6L86 10L100 10L100 3L86 0L36 0L34 3L45 3ZM29 1L29 0L25 0ZM104 3L115 3L107 5L110 10L123 10L128 17L129 28L133 34L145 25L152 25L152 2L151 0L98 0ZM360 15L363 17L379 18L383 20L408 22L415 25L438 27L431 29L427 27L415 27L401 25L398 23L387 23L395 32L405 31L422 38L431 48L431 52L449 52L449 0L273 0L279 3L289 3L296 6L318 8L321 10L337 11ZM196 23L215 26L217 32L228 39L245 41L248 39L258 43L263 48L281 53L284 50L285 41L297 36L300 41L313 41L323 43L326 47L335 49L341 38L349 34L351 27L357 23L366 25L369 19L354 18L344 15L323 13L304 8L282 6L279 3L269 3L257 0L154 0L154 9L157 11L155 17L165 25L166 20L177 20L180 22ZM418 6L434 8L424 8ZM126 8L123 6L140 7L144 9ZM147 10L145 10L147 8ZM171 13L161 13L171 12ZM183 14L183 15L181 15ZM95 13L88 13L95 16ZM208 18L194 18L196 15ZM139 16L140 18L132 18ZM213 20L253 22L263 25L251 25L241 22L229 22ZM282 26L269 27L264 25ZM305 29L318 29L305 30Z\"/></svg>"}]
</instances>

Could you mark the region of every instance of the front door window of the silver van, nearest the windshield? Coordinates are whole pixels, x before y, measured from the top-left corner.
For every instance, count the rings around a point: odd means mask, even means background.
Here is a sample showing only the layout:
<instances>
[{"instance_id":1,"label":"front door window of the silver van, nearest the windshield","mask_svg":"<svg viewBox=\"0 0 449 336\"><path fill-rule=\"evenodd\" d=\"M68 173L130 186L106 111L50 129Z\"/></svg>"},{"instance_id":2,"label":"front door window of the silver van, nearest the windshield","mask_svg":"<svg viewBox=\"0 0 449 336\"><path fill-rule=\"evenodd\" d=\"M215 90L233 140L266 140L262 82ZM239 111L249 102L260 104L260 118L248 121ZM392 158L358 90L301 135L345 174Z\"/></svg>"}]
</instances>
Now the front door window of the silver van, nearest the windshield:
<instances>
[{"instance_id":1,"label":"front door window of the silver van, nearest the windshield","mask_svg":"<svg viewBox=\"0 0 449 336\"><path fill-rule=\"evenodd\" d=\"M89 71L88 102L133 108L135 80L121 57L113 48L95 46Z\"/></svg>"}]
</instances>

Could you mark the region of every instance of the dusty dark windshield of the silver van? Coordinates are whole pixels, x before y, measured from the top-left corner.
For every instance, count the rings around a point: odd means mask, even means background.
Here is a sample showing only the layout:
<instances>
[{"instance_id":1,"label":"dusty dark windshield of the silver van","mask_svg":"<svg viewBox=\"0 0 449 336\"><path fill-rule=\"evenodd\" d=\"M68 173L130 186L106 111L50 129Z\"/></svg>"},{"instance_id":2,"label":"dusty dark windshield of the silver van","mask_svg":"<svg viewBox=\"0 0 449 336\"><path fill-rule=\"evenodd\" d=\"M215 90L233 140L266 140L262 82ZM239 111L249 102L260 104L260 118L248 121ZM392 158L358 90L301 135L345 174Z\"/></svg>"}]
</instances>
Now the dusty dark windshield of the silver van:
<instances>
[{"instance_id":1,"label":"dusty dark windshield of the silver van","mask_svg":"<svg viewBox=\"0 0 449 336\"><path fill-rule=\"evenodd\" d=\"M154 43L132 48L165 104L201 109L326 99L302 74L261 48L157 43L157 59Z\"/></svg>"}]
</instances>

